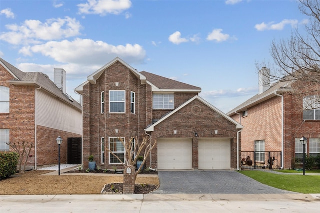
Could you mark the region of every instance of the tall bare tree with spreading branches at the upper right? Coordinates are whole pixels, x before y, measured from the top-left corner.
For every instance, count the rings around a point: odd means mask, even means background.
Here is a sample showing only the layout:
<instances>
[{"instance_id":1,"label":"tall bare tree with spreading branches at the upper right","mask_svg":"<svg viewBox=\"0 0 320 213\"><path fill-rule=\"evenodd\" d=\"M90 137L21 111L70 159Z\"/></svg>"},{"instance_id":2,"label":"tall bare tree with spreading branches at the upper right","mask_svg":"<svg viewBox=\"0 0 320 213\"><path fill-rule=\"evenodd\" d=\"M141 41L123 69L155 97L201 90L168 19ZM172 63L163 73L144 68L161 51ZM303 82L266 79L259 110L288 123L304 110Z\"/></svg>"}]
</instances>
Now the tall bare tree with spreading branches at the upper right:
<instances>
[{"instance_id":1,"label":"tall bare tree with spreading branches at the upper right","mask_svg":"<svg viewBox=\"0 0 320 213\"><path fill-rule=\"evenodd\" d=\"M318 107L320 101L320 3L318 0L299 0L299 10L308 17L304 22L305 35L295 28L287 40L271 43L270 53L274 64L270 67L271 81L291 83L291 93L303 100L303 107ZM265 63L256 63L257 70ZM312 98L311 96L312 95ZM305 101L305 97L308 100ZM311 104L312 102L312 104ZM298 104L302 110L302 104Z\"/></svg>"}]
</instances>

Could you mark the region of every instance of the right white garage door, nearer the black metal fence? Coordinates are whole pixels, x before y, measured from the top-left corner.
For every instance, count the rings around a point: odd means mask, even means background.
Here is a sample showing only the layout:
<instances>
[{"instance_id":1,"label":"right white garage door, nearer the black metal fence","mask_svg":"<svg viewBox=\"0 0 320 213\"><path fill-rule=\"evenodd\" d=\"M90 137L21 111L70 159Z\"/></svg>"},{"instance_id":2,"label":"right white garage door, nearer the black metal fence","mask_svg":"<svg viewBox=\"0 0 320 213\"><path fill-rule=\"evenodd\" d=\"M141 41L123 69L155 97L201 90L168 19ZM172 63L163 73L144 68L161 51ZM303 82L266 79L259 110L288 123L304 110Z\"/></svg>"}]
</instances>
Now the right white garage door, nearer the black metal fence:
<instances>
[{"instance_id":1,"label":"right white garage door, nearer the black metal fence","mask_svg":"<svg viewBox=\"0 0 320 213\"><path fill-rule=\"evenodd\" d=\"M230 169L230 139L199 138L199 169Z\"/></svg>"}]
</instances>

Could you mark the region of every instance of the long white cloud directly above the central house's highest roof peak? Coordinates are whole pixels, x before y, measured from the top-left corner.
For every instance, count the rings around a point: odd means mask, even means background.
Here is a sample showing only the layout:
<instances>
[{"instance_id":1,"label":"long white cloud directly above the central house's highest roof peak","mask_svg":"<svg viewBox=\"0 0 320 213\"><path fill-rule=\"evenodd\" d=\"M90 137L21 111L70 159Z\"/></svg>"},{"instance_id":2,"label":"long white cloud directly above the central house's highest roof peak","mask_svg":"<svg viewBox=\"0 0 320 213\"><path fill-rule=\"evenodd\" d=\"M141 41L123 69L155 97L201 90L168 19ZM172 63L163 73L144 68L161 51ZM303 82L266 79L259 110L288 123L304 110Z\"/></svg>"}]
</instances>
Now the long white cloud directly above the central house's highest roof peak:
<instances>
[{"instance_id":1,"label":"long white cloud directly above the central house's highest roof peak","mask_svg":"<svg viewBox=\"0 0 320 213\"><path fill-rule=\"evenodd\" d=\"M128 63L141 63L145 50L139 44L111 45L103 41L75 38L73 41L48 41L44 44L26 46L20 53L41 53L61 63L103 65L105 61L119 56Z\"/></svg>"}]
</instances>

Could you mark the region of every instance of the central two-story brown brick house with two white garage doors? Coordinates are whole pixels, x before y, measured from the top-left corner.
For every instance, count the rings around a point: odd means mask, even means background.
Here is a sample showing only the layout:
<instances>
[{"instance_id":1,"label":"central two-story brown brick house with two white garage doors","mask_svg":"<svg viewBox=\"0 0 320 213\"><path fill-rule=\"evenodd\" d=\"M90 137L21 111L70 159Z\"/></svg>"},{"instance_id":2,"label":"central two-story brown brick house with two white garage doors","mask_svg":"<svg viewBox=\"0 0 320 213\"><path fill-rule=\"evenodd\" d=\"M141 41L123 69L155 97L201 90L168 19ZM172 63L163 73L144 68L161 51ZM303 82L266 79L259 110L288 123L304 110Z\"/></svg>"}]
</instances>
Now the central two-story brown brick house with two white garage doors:
<instances>
[{"instance_id":1,"label":"central two-story brown brick house with two white garage doors","mask_svg":"<svg viewBox=\"0 0 320 213\"><path fill-rule=\"evenodd\" d=\"M115 58L87 77L82 95L83 167L120 166L118 137L157 139L146 165L157 169L237 168L242 126L198 96L199 87L145 71ZM140 141L139 141L140 142ZM120 167L119 167L120 168Z\"/></svg>"}]
</instances>

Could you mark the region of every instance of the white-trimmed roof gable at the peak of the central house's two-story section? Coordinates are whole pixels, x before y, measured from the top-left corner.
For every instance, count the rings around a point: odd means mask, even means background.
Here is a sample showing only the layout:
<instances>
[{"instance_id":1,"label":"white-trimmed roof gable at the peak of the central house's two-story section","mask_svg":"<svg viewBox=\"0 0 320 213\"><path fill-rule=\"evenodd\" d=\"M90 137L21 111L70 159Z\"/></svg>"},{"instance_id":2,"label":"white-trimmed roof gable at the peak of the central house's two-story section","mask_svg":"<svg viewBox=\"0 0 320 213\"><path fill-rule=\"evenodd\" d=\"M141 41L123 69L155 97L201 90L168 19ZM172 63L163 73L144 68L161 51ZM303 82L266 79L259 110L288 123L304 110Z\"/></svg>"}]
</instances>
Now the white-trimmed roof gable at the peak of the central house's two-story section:
<instances>
[{"instance_id":1,"label":"white-trimmed roof gable at the peak of the central house's two-story section","mask_svg":"<svg viewBox=\"0 0 320 213\"><path fill-rule=\"evenodd\" d=\"M123 64L124 66L126 66L137 78L139 78L142 82L145 82L145 76L143 76L142 74L140 74L138 71L136 71L133 67L131 67L129 64L127 64L126 62L124 62L122 59L120 59L119 57L114 58L113 60L111 60L110 62L108 62L107 64L105 64L104 66L102 66L100 69L96 70L95 72L93 72L91 75L89 75L87 77L87 80L92 83L95 84L96 80L100 77L100 75L103 73L103 71L111 66L112 64L114 64L115 62L120 62L121 64Z\"/></svg>"}]
</instances>

